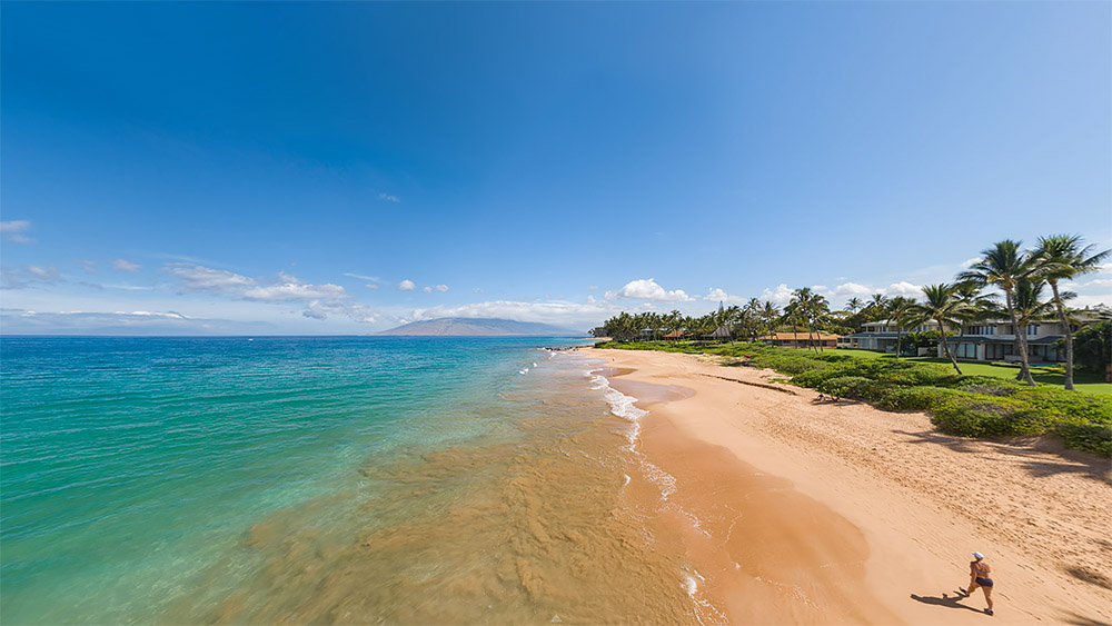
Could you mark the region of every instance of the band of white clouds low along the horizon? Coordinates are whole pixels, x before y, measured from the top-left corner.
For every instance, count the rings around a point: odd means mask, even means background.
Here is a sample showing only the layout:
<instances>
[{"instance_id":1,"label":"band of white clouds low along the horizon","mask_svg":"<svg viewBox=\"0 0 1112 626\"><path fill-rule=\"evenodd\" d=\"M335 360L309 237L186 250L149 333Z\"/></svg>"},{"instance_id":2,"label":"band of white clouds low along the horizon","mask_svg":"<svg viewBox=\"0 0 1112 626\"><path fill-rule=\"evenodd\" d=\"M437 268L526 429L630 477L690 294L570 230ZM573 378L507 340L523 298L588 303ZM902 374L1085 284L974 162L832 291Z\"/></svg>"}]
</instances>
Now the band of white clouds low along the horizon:
<instances>
[{"instance_id":1,"label":"band of white clouds low along the horizon","mask_svg":"<svg viewBox=\"0 0 1112 626\"><path fill-rule=\"evenodd\" d=\"M82 268L88 260L75 261ZM115 261L110 265L117 267ZM137 265L138 264L133 264ZM954 264L960 268L965 264ZM130 267L130 266L129 266ZM139 269L117 267L120 271ZM552 324L565 327L593 327L623 310L668 311L702 315L719 302L744 305L751 298L783 306L791 300L793 288L786 282L765 287L754 296L707 288L702 297L688 296L683 289L666 289L654 278L638 278L619 288L606 290L603 298L587 294L582 299L519 298L480 299L456 304L431 304L406 307L359 301L348 289L332 282L310 284L278 271L271 276L249 277L230 270L187 262L165 264L149 286L130 284L93 284L77 281L80 275L63 274L54 266L26 266L4 270L6 301L18 304L53 302L57 310L41 308L0 309L0 328L4 334L111 334L111 335L244 335L244 334L348 334L370 332L410 321L443 317L502 318L518 321ZM358 276L357 278L365 278ZM952 280L940 276L937 281ZM406 288L405 286L411 286ZM61 287L61 290L56 288ZM370 287L367 285L366 287ZM377 289L377 286L374 286ZM584 290L590 290L584 287ZM830 288L811 285L825 296L832 308L840 309L853 297L867 298L921 295L922 285L909 281L887 286L871 286L845 281ZM1080 292L1074 306L1112 302L1112 264L1100 272L1081 280L1063 284L1063 288ZM443 296L446 285L419 288L410 280L398 284L398 290ZM68 294L83 291L71 298ZM136 291L142 291L137 296ZM92 295L90 297L89 295ZM26 302L23 296L27 296ZM478 294L481 295L481 291ZM80 310L89 306L97 310ZM163 310L141 310L147 302L159 302ZM98 308L99 307L99 308ZM192 309L198 307L196 311ZM64 310L63 310L64 309ZM214 317L212 311L235 312L234 317ZM182 312L188 311L188 312ZM297 322L301 318L304 322ZM312 325L319 325L316 328Z\"/></svg>"}]
</instances>

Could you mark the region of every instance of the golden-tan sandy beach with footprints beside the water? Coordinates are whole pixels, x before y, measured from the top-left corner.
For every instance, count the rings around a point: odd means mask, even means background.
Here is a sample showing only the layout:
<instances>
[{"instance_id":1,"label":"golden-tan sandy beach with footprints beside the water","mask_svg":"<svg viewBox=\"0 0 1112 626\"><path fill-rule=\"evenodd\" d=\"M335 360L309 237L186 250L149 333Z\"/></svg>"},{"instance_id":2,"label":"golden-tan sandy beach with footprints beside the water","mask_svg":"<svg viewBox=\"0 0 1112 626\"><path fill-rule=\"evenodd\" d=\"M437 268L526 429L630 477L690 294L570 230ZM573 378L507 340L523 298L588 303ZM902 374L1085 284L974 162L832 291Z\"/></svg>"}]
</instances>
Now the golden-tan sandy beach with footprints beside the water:
<instances>
[{"instance_id":1,"label":"golden-tan sandy beach with footprints beside the water","mask_svg":"<svg viewBox=\"0 0 1112 626\"><path fill-rule=\"evenodd\" d=\"M584 351L649 410L641 449L677 485L664 523L731 623L1112 622L1106 460L947 437L713 357ZM973 550L995 617L957 594Z\"/></svg>"}]
</instances>

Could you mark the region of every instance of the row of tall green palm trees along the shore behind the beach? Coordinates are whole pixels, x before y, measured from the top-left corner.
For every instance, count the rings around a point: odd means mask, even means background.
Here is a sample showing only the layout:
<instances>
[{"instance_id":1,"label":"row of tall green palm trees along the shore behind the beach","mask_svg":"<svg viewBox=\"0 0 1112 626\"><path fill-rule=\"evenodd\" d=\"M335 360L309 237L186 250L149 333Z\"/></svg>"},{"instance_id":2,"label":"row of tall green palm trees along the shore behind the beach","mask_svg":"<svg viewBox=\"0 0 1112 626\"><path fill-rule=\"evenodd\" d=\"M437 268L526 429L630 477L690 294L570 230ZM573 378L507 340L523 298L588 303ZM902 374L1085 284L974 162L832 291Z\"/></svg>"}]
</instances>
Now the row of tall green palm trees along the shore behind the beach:
<instances>
[{"instance_id":1,"label":"row of tall green palm trees along the shore behind the beach","mask_svg":"<svg viewBox=\"0 0 1112 626\"><path fill-rule=\"evenodd\" d=\"M922 288L921 299L896 296L887 298L874 294L868 299L851 298L843 310L832 310L827 299L808 287L795 289L792 299L783 308L771 301L751 298L744 306L725 307L704 316L685 316L678 310L668 314L645 311L620 312L606 320L596 336L606 336L620 341L635 339L662 339L667 334L686 331L696 338L726 329L731 339L756 340L776 331L790 331L796 337L806 334L808 346L821 351L814 337L822 332L848 335L861 330L871 321L888 320L896 327L896 358L906 346L904 328L934 321L942 330L936 334L919 334L917 341L936 340L940 356L949 358L957 374L962 374L957 356L950 349L947 337L959 332L969 324L1005 317L1015 334L1015 350L1020 357L1016 379L1034 385L1031 376L1029 346L1025 329L1045 320L1056 320L1065 336L1065 388L1073 389L1075 309L1066 302L1075 298L1071 291L1062 290L1064 281L1081 275L1098 271L1112 250L1096 250L1085 245L1076 235L1054 235L1039 238L1037 245L1023 249L1020 241L1005 239L981 251L976 262L960 272L953 282L927 285ZM1050 292L1046 292L1048 287ZM986 292L995 288L999 292ZM1108 328L1104 328L1108 327ZM1088 341L1094 346L1089 351L1098 352L1099 362L1108 364L1112 346L1102 346L1104 335L1112 335L1112 321L1104 321L1095 329L1083 329ZM1093 337L1090 337L1092 335ZM798 345L798 341L796 341Z\"/></svg>"}]
</instances>

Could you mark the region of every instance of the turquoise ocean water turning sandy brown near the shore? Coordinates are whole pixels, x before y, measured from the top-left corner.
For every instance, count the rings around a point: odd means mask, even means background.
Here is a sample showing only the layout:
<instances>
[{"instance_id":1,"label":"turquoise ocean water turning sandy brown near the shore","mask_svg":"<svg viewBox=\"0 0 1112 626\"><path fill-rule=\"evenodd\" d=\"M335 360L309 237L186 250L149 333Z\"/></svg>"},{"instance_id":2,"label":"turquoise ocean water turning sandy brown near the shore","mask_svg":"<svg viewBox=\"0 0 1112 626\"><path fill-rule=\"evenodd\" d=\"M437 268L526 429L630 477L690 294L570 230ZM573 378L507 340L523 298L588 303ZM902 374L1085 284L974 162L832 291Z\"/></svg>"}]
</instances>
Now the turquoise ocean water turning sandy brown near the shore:
<instances>
[{"instance_id":1,"label":"turquoise ocean water turning sandy brown near the shore","mask_svg":"<svg viewBox=\"0 0 1112 626\"><path fill-rule=\"evenodd\" d=\"M6 337L0 622L705 622L576 342Z\"/></svg>"}]
</instances>

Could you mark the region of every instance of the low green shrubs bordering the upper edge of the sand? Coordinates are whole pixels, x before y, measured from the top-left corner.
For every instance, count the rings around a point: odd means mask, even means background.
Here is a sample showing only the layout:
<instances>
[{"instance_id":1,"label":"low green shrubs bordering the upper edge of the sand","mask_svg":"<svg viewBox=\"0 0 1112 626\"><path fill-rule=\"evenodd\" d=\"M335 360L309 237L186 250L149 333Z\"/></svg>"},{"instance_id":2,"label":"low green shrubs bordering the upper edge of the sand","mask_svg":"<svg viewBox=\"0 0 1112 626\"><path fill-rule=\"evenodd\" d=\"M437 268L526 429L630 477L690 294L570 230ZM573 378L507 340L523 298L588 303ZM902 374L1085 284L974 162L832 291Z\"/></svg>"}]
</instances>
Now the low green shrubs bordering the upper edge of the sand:
<instances>
[{"instance_id":1,"label":"low green shrubs bordering the upper edge of the sand","mask_svg":"<svg viewBox=\"0 0 1112 626\"><path fill-rule=\"evenodd\" d=\"M597 344L605 348L689 351L692 345L663 341ZM966 376L906 359L866 359L835 351L815 354L765 344L719 344L697 348L732 357L731 365L767 367L791 382L843 398L875 403L886 410L925 410L940 430L963 437L1045 435L1068 447L1112 457L1112 398L1029 386L987 376Z\"/></svg>"}]
</instances>

